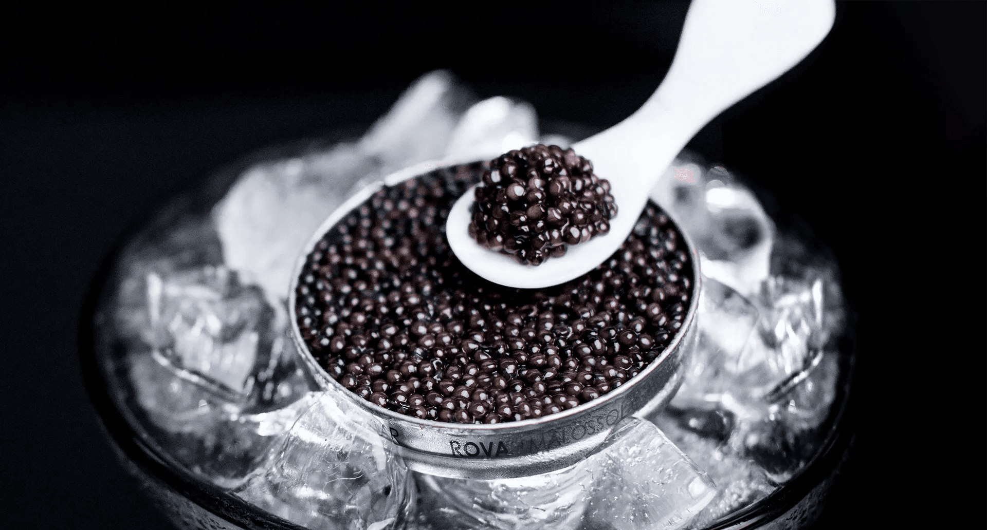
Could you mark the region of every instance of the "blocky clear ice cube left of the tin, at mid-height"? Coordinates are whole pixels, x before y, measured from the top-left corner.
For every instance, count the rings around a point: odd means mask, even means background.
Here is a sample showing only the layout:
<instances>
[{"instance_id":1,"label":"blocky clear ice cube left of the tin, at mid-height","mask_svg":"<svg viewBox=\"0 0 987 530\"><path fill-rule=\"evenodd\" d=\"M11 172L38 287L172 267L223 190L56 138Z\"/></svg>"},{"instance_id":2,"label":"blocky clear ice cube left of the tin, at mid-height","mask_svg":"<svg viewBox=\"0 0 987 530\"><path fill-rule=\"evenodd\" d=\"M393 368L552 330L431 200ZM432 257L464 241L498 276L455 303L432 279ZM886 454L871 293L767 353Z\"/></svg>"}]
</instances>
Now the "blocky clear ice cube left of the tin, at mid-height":
<instances>
[{"instance_id":1,"label":"blocky clear ice cube left of the tin, at mid-height","mask_svg":"<svg viewBox=\"0 0 987 530\"><path fill-rule=\"evenodd\" d=\"M166 379L190 381L253 413L285 406L312 388L261 288L243 285L225 266L173 269L134 260L118 302L117 329L132 354L168 368Z\"/></svg>"}]
</instances>

